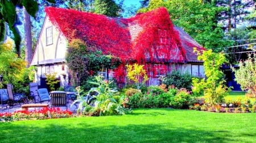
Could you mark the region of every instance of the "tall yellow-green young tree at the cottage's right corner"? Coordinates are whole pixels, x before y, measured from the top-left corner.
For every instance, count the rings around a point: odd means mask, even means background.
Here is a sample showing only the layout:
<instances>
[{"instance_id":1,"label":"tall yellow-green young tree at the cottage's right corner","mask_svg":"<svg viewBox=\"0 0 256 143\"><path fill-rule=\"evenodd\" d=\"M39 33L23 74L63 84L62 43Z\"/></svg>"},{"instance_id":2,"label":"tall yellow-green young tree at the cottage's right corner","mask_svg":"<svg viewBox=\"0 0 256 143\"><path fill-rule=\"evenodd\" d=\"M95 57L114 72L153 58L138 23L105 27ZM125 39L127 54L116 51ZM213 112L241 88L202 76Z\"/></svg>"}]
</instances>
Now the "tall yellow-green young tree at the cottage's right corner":
<instances>
[{"instance_id":1,"label":"tall yellow-green young tree at the cottage's right corner","mask_svg":"<svg viewBox=\"0 0 256 143\"><path fill-rule=\"evenodd\" d=\"M218 105L228 95L229 89L225 85L224 73L220 67L226 62L223 53L213 53L212 50L203 51L199 60L204 61L204 70L207 79L192 79L192 92L195 96L204 94L208 106ZM202 92L203 91L203 92Z\"/></svg>"}]
</instances>

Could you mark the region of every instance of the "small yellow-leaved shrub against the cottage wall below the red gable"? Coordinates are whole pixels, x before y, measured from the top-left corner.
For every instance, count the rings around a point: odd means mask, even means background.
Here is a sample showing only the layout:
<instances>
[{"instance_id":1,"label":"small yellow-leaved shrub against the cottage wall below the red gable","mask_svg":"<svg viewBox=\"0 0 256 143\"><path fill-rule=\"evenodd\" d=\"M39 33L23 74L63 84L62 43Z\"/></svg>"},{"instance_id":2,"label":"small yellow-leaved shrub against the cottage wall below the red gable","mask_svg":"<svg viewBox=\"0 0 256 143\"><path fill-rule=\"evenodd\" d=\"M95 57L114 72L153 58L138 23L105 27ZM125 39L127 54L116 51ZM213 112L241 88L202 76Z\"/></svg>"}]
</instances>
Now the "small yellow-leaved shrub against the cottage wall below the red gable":
<instances>
[{"instance_id":1,"label":"small yellow-leaved shrub against the cottage wall below the red gable","mask_svg":"<svg viewBox=\"0 0 256 143\"><path fill-rule=\"evenodd\" d=\"M144 65L135 63L133 65L127 64L126 67L128 79L133 81L137 85L137 89L139 89L148 80Z\"/></svg>"}]
</instances>

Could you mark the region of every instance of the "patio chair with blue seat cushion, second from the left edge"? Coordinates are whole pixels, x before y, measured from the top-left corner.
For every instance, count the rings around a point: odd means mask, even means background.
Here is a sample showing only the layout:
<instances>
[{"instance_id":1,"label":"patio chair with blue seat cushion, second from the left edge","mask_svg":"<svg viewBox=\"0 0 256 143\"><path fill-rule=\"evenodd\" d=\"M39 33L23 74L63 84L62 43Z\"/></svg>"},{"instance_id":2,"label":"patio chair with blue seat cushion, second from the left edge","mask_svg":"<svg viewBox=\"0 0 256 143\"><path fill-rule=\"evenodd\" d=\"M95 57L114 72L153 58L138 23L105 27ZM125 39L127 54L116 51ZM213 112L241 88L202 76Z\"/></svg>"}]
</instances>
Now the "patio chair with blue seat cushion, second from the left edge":
<instances>
[{"instance_id":1,"label":"patio chair with blue seat cushion, second from the left edge","mask_svg":"<svg viewBox=\"0 0 256 143\"><path fill-rule=\"evenodd\" d=\"M7 84L7 93L9 96L9 106L12 108L15 103L28 103L25 93L13 93L13 84Z\"/></svg>"}]
</instances>

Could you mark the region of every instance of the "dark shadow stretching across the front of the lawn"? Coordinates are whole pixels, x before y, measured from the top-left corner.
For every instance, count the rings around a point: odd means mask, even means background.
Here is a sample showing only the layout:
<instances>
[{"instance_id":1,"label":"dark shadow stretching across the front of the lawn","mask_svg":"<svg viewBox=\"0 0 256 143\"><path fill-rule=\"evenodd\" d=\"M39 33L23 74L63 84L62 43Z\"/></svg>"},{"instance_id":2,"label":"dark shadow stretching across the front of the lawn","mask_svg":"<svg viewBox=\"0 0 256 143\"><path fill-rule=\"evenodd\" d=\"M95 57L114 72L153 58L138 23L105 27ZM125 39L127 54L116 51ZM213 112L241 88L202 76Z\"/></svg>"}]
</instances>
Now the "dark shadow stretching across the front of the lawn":
<instances>
[{"instance_id":1,"label":"dark shadow stretching across the front of the lawn","mask_svg":"<svg viewBox=\"0 0 256 143\"><path fill-rule=\"evenodd\" d=\"M154 114L153 114L154 115ZM232 138L228 131L207 131L202 129L180 128L179 125L166 124L129 124L104 125L75 120L70 124L48 120L36 122L39 125L15 125L5 123L0 127L0 142L244 142ZM43 127L42 127L43 124ZM72 127L72 128L71 128ZM239 136L246 136L240 135ZM253 136L253 135L247 135ZM239 137L238 137L239 138Z\"/></svg>"}]
</instances>

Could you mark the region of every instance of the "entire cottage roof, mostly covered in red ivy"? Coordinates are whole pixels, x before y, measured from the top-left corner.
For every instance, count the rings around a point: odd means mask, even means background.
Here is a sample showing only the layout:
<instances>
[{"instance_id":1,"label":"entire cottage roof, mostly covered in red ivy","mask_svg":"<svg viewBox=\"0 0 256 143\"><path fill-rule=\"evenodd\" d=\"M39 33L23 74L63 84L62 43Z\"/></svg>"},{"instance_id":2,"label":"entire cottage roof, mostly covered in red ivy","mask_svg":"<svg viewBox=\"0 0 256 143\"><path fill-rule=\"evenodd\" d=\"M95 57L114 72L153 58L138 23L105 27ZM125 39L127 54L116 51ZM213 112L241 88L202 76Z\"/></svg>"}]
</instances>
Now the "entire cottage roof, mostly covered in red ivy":
<instances>
[{"instance_id":1,"label":"entire cottage roof, mostly covered in red ivy","mask_svg":"<svg viewBox=\"0 0 256 143\"><path fill-rule=\"evenodd\" d=\"M129 19L55 7L47 7L46 14L68 40L79 38L123 60L200 62L193 47L203 47L174 27L163 7Z\"/></svg>"}]
</instances>

